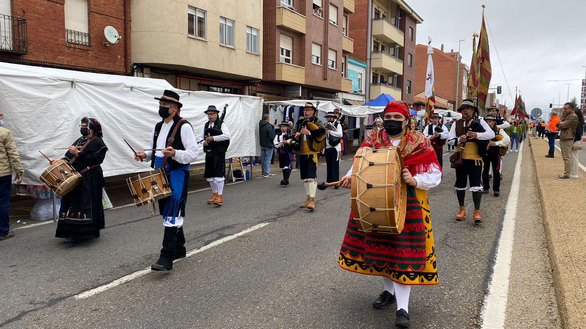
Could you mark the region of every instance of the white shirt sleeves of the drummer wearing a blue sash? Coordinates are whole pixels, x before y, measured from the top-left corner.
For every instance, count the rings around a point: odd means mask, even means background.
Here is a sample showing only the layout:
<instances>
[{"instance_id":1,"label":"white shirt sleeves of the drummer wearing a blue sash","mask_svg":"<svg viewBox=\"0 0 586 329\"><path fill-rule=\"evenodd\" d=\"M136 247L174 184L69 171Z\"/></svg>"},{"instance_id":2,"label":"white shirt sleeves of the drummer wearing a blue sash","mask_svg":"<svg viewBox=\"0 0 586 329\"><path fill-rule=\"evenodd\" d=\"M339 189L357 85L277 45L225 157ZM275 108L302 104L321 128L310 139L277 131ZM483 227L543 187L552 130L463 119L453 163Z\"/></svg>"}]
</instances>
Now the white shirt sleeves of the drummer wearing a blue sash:
<instances>
[{"instance_id":1,"label":"white shirt sleeves of the drummer wearing a blue sash","mask_svg":"<svg viewBox=\"0 0 586 329\"><path fill-rule=\"evenodd\" d=\"M153 144L153 138L155 136L155 128L152 129L151 133L151 141L148 144L149 149L165 149L167 146L167 136L169 135L169 131L171 130L171 126L173 125L173 121L169 123L165 123L163 121L163 125L161 126L161 131L159 132L159 136L156 139L156 146ZM175 156L171 157L171 159L175 160L179 163L189 164L197 160L197 143L195 142L195 136L193 135L193 128L189 124L183 124L180 130L181 134L181 142L183 146L185 146L185 150L175 150ZM150 161L152 159L153 151L145 151L147 158L145 161ZM155 156L163 157L163 152L155 151Z\"/></svg>"}]
</instances>

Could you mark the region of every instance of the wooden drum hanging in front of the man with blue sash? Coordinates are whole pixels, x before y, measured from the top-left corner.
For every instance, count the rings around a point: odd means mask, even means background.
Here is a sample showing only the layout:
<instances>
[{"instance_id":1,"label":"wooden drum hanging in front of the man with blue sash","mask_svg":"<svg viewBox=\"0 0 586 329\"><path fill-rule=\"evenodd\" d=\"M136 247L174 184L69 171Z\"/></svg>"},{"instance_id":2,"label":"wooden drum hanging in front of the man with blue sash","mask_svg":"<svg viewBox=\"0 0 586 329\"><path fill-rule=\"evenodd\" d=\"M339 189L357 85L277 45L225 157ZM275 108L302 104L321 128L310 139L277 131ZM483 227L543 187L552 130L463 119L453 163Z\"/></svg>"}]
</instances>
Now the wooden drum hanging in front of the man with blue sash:
<instances>
[{"instance_id":1,"label":"wooden drum hanging in front of the man with blue sash","mask_svg":"<svg viewBox=\"0 0 586 329\"><path fill-rule=\"evenodd\" d=\"M132 176L126 182L137 207L171 196L171 188L163 169Z\"/></svg>"}]
</instances>

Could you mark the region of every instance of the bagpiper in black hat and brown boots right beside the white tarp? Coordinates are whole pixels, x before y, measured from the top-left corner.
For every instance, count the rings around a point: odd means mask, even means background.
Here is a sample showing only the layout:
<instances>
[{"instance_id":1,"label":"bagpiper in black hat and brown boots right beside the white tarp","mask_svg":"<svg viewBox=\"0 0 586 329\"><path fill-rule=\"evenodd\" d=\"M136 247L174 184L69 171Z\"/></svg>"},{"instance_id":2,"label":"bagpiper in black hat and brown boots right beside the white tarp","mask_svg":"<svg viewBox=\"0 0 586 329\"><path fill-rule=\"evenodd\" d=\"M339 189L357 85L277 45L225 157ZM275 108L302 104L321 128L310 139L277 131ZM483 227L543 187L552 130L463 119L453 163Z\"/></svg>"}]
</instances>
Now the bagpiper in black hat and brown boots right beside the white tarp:
<instances>
[{"instance_id":1,"label":"bagpiper in black hat and brown boots right beside the white tarp","mask_svg":"<svg viewBox=\"0 0 586 329\"><path fill-rule=\"evenodd\" d=\"M207 204L222 205L226 176L226 150L230 145L230 131L226 123L218 118L220 111L214 105L207 107L204 113L209 121L203 126L202 133L199 135L199 142L203 142L203 152L206 152L206 169L203 178L210 182L213 192ZM210 128L215 130L209 130Z\"/></svg>"}]
</instances>

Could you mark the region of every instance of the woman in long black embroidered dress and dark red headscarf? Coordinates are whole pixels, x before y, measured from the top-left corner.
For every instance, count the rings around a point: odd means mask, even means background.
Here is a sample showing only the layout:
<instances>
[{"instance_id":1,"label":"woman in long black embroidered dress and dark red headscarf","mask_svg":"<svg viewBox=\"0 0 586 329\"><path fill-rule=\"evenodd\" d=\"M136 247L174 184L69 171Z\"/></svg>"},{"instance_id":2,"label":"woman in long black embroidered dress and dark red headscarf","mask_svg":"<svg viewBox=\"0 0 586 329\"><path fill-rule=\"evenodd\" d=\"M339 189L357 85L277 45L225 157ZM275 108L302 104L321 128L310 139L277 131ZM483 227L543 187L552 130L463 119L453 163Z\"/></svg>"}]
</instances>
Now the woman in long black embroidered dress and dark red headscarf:
<instances>
[{"instance_id":1,"label":"woman in long black embroidered dress and dark red headscarf","mask_svg":"<svg viewBox=\"0 0 586 329\"><path fill-rule=\"evenodd\" d=\"M86 116L79 126L81 137L69 146L63 157L81 174L81 182L61 199L55 237L65 238L66 244L100 237L100 229L104 228L104 173L100 164L108 148L102 140L100 122Z\"/></svg>"}]
</instances>

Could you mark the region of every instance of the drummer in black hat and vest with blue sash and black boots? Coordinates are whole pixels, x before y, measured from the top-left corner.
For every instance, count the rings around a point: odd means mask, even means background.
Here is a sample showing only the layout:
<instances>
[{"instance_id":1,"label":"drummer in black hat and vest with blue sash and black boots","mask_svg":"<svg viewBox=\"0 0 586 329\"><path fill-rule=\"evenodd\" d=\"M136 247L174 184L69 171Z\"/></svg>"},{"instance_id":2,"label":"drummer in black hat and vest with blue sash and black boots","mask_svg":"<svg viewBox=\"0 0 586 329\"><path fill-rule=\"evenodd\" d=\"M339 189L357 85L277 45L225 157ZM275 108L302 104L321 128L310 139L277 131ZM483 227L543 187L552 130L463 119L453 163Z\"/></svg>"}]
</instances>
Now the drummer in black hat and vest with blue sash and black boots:
<instances>
[{"instance_id":1,"label":"drummer in black hat and vest with blue sash and black boots","mask_svg":"<svg viewBox=\"0 0 586 329\"><path fill-rule=\"evenodd\" d=\"M155 125L148 148L162 151L138 151L134 159L150 161L154 169L162 168L164 162L165 172L169 174L172 195L159 200L159 212L163 216L165 227L163 248L159 260L151 265L151 269L171 270L173 259L184 258L186 254L183 217L189 183L189 164L197 159L198 151L191 124L179 116L180 108L183 107L179 102L179 95L174 91L165 90L163 96L155 97L155 100L159 101L159 116L163 120ZM167 146L178 125L171 146Z\"/></svg>"}]
</instances>

